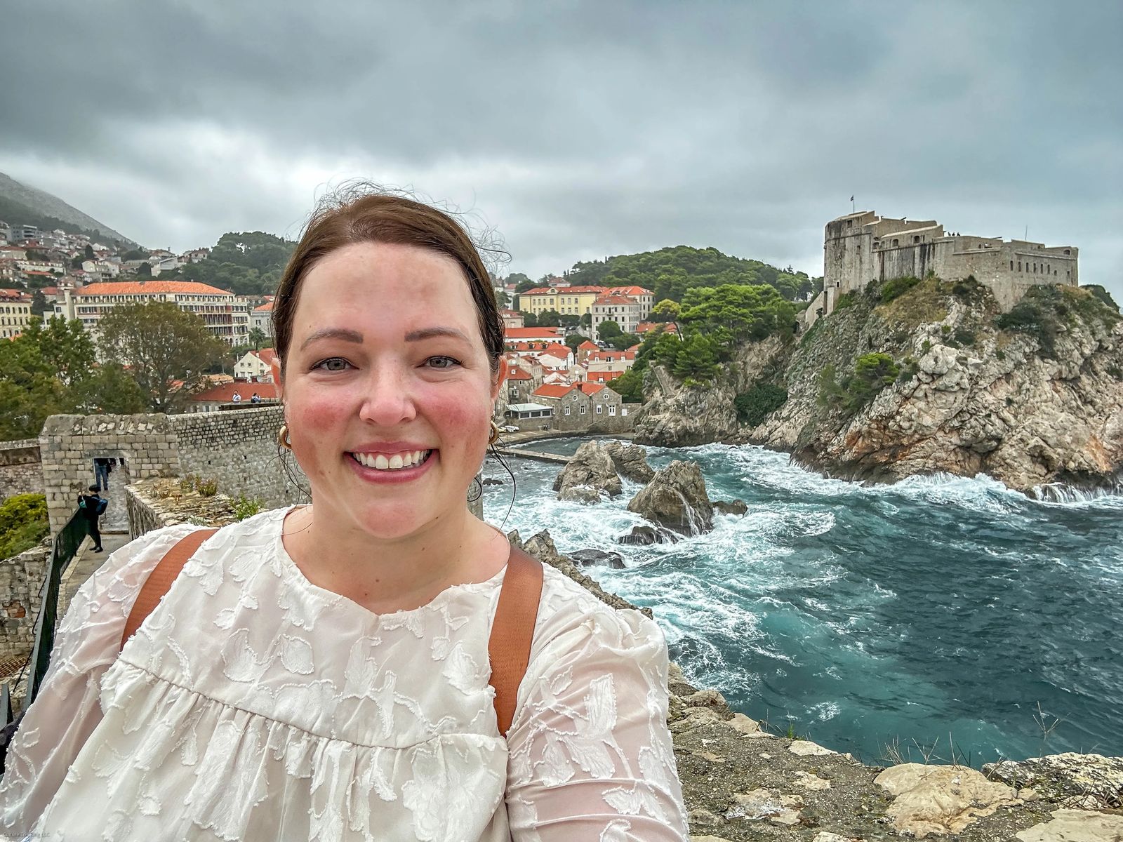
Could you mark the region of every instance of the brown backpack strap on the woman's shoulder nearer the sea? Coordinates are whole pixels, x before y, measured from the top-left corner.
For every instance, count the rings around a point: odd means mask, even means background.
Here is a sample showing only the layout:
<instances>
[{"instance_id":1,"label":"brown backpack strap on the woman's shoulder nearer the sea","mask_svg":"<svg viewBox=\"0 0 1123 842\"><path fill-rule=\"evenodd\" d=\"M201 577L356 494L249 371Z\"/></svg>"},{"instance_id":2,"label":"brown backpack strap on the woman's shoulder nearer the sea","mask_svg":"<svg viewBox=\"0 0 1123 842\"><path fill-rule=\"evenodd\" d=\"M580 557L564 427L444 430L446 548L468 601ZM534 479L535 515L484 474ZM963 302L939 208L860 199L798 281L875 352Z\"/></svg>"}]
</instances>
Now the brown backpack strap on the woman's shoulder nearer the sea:
<instances>
[{"instance_id":1,"label":"brown backpack strap on the woman's shoulder nearer the sea","mask_svg":"<svg viewBox=\"0 0 1123 842\"><path fill-rule=\"evenodd\" d=\"M495 719L503 736L514 719L519 685L530 662L530 642L541 597L542 562L512 547L487 640L492 666L490 684L495 688Z\"/></svg>"}]
</instances>

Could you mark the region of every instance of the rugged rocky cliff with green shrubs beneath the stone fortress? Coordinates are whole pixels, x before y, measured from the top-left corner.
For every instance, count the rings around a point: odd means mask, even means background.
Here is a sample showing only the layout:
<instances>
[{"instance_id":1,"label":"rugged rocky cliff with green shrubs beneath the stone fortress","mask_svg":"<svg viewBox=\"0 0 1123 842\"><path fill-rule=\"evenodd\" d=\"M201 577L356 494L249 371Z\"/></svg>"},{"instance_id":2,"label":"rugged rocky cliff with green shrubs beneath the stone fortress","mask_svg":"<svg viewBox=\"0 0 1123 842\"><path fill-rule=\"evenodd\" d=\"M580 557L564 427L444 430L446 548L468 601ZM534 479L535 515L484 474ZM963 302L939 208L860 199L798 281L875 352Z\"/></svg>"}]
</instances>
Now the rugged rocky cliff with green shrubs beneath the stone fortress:
<instances>
[{"instance_id":1,"label":"rugged rocky cliff with green shrubs beneath the stone fortress","mask_svg":"<svg viewBox=\"0 0 1123 842\"><path fill-rule=\"evenodd\" d=\"M734 401L761 383L787 400L749 425ZM985 473L1025 492L1121 479L1123 321L1084 289L1034 287L1003 315L971 281L870 285L803 337L739 349L709 388L654 369L646 385L641 443L761 443L832 476Z\"/></svg>"}]
</instances>

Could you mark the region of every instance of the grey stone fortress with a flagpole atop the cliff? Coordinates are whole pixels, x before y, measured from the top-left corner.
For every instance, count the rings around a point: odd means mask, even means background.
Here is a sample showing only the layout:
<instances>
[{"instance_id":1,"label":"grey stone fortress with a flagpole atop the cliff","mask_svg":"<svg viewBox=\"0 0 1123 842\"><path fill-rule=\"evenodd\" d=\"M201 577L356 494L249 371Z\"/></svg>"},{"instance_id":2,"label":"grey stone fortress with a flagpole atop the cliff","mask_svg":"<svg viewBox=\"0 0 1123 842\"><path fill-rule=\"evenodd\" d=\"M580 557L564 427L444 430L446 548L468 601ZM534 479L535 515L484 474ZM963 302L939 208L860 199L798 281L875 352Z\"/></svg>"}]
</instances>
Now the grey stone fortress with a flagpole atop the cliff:
<instances>
[{"instance_id":1,"label":"grey stone fortress with a flagpole atop the cliff","mask_svg":"<svg viewBox=\"0 0 1123 842\"><path fill-rule=\"evenodd\" d=\"M1077 286L1077 249L1030 240L947 232L935 220L889 219L858 211L831 220L823 236L823 291L803 315L803 329L830 315L840 295L873 281L974 276L1008 312L1037 284Z\"/></svg>"}]
</instances>

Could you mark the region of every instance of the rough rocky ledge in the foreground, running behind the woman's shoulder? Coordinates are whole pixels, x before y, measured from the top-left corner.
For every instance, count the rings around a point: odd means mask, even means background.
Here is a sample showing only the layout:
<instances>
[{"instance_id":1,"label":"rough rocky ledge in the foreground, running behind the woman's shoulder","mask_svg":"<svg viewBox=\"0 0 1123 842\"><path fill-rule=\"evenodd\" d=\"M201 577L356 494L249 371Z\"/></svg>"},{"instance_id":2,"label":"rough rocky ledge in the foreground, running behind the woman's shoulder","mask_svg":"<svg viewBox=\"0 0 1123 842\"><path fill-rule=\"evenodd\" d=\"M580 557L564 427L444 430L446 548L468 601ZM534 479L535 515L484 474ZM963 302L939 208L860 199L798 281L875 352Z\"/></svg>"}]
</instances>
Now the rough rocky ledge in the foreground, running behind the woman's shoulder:
<instances>
[{"instance_id":1,"label":"rough rocky ledge in the foreground, running behind the woman's shoulder","mask_svg":"<svg viewBox=\"0 0 1123 842\"><path fill-rule=\"evenodd\" d=\"M548 532L511 542L615 608ZM650 610L640 608L650 616ZM769 733L672 665L668 725L693 842L860 842L912 836L989 842L1119 842L1123 759L1056 754L985 766L866 766L816 743Z\"/></svg>"}]
</instances>

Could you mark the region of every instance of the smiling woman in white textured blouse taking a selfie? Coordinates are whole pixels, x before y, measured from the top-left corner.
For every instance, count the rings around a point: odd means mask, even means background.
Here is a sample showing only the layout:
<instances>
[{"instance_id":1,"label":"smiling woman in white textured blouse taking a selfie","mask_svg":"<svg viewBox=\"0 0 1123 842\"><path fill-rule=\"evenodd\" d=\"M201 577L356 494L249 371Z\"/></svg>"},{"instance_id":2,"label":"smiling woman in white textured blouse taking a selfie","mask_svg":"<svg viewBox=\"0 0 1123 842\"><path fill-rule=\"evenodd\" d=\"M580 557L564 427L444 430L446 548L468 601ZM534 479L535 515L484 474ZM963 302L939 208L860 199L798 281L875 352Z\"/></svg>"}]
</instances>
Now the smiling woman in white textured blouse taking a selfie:
<instances>
[{"instance_id":1,"label":"smiling woman in white textured blouse taking a selfie","mask_svg":"<svg viewBox=\"0 0 1123 842\"><path fill-rule=\"evenodd\" d=\"M80 591L9 752L0 831L67 840L682 840L658 629L545 570L506 739L487 641L510 547L467 488L503 379L464 230L414 201L322 208L274 304L281 441L312 504L193 527Z\"/></svg>"}]
</instances>

